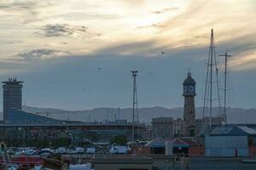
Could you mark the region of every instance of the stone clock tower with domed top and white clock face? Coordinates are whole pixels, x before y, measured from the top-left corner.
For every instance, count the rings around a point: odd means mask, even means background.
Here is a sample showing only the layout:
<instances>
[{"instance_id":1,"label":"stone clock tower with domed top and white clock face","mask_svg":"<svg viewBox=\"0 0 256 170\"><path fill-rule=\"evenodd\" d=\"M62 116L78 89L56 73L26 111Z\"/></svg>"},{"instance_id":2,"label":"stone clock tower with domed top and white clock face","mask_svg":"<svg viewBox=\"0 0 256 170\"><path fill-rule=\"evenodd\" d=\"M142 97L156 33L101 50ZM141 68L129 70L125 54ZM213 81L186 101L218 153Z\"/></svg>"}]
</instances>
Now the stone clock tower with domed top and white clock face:
<instances>
[{"instance_id":1,"label":"stone clock tower with domed top and white clock face","mask_svg":"<svg viewBox=\"0 0 256 170\"><path fill-rule=\"evenodd\" d=\"M195 80L188 72L183 82L184 110L183 110L183 135L195 136Z\"/></svg>"}]
</instances>

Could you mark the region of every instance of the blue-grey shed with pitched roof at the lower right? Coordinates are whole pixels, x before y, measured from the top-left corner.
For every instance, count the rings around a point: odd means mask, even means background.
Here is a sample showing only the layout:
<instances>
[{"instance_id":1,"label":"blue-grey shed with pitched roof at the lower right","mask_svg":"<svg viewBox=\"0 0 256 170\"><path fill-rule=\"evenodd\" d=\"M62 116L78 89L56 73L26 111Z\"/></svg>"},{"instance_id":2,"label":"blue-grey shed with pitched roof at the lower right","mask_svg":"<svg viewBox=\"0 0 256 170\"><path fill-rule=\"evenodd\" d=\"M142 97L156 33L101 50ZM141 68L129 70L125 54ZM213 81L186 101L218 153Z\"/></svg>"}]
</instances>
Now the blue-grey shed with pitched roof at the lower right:
<instances>
[{"instance_id":1,"label":"blue-grey shed with pitched roof at the lower right","mask_svg":"<svg viewBox=\"0 0 256 170\"><path fill-rule=\"evenodd\" d=\"M212 127L201 135L205 143L205 156L247 157L255 156L255 126L225 125Z\"/></svg>"}]
</instances>

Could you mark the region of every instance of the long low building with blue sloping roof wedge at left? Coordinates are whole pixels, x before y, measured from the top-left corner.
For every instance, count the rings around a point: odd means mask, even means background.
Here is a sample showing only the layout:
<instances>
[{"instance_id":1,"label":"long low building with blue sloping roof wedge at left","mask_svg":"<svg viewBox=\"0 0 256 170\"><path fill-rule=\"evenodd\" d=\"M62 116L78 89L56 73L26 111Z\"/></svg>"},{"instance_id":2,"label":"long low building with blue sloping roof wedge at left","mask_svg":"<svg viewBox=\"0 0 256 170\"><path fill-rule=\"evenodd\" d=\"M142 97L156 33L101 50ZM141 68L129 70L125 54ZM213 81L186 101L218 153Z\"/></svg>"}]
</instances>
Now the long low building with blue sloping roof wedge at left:
<instances>
[{"instance_id":1,"label":"long low building with blue sloping roof wedge at left","mask_svg":"<svg viewBox=\"0 0 256 170\"><path fill-rule=\"evenodd\" d=\"M8 122L0 122L0 137L9 146L55 147L59 139L68 139L70 144L79 146L88 140L109 143L115 136L125 136L131 141L132 123L129 122L66 122L15 109L9 109L8 116ZM145 139L144 124L136 123L134 129L135 136Z\"/></svg>"}]
</instances>

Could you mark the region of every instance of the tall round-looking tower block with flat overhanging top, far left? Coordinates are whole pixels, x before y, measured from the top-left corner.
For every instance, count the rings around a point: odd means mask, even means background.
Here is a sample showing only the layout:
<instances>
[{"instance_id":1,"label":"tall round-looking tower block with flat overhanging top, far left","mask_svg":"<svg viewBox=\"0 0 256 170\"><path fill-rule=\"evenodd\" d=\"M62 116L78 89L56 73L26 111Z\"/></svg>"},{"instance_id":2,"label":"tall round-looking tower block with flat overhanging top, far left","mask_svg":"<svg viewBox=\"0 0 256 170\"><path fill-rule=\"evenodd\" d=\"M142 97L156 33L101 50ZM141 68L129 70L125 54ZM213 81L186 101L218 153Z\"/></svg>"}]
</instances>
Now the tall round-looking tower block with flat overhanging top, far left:
<instances>
[{"instance_id":1,"label":"tall round-looking tower block with flat overhanging top, far left","mask_svg":"<svg viewBox=\"0 0 256 170\"><path fill-rule=\"evenodd\" d=\"M8 121L9 109L22 110L22 82L9 78L3 83L3 121Z\"/></svg>"}]
</instances>

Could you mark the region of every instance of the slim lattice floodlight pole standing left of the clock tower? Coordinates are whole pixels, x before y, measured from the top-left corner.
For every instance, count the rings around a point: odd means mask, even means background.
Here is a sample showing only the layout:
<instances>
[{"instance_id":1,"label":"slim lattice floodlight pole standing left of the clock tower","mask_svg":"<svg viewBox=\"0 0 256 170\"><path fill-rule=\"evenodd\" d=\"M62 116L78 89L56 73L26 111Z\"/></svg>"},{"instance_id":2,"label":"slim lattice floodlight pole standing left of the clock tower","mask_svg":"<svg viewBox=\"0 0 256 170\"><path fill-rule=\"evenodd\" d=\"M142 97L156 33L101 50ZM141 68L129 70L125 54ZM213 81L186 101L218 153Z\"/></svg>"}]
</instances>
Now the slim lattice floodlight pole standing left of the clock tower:
<instances>
[{"instance_id":1,"label":"slim lattice floodlight pole standing left of the clock tower","mask_svg":"<svg viewBox=\"0 0 256 170\"><path fill-rule=\"evenodd\" d=\"M137 116L137 113L135 113L135 110L137 112L137 84L136 84L136 77L137 77L137 71L131 71L132 77L133 77L133 102L132 102L132 144L135 142L135 118Z\"/></svg>"}]
</instances>

